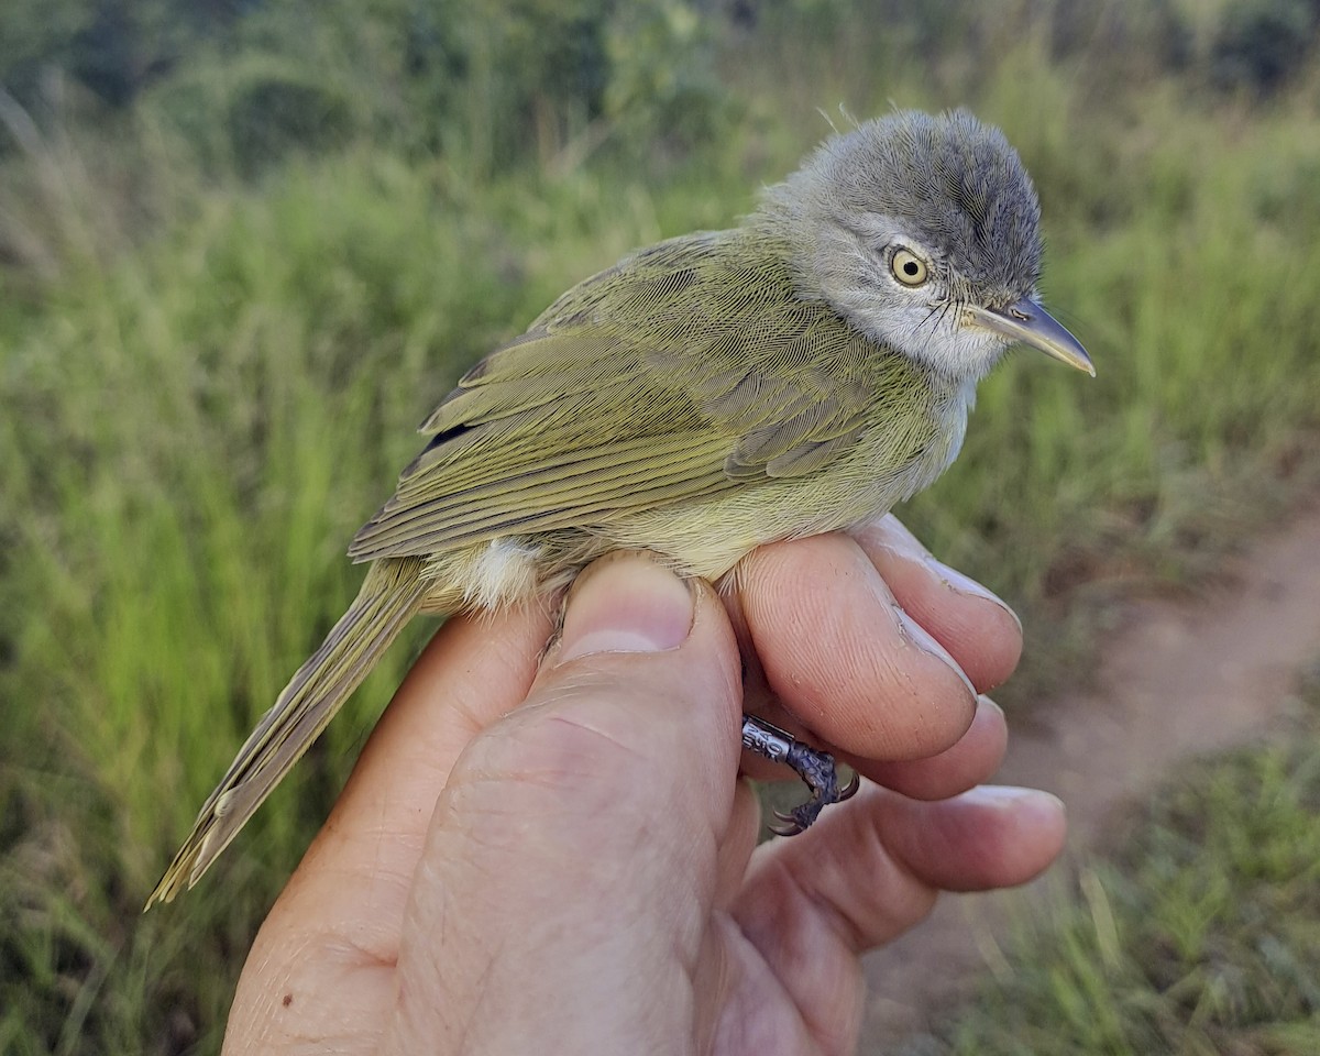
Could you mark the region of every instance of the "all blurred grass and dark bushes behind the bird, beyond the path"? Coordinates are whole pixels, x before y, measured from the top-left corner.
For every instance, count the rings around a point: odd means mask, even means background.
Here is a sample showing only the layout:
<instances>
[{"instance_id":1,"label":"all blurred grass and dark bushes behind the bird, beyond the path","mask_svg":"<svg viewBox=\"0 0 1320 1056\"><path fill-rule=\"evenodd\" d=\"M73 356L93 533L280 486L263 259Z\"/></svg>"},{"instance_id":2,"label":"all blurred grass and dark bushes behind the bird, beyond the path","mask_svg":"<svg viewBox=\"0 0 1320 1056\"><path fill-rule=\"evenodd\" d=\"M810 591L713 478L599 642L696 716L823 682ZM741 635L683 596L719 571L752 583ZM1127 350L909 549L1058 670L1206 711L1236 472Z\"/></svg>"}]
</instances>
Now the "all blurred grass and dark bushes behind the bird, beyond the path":
<instances>
[{"instance_id":1,"label":"all blurred grass and dark bushes behind the bird, beyond the path","mask_svg":"<svg viewBox=\"0 0 1320 1056\"><path fill-rule=\"evenodd\" d=\"M412 425L572 282L734 222L828 132L817 108L968 104L1040 189L1045 297L1100 379L1014 358L904 511L1024 612L1018 701L1080 677L1106 599L1213 576L1320 467L1313 22L1284 0L0 5L0 1051L218 1048L428 628L203 888L139 908L351 597L342 549Z\"/></svg>"}]
</instances>

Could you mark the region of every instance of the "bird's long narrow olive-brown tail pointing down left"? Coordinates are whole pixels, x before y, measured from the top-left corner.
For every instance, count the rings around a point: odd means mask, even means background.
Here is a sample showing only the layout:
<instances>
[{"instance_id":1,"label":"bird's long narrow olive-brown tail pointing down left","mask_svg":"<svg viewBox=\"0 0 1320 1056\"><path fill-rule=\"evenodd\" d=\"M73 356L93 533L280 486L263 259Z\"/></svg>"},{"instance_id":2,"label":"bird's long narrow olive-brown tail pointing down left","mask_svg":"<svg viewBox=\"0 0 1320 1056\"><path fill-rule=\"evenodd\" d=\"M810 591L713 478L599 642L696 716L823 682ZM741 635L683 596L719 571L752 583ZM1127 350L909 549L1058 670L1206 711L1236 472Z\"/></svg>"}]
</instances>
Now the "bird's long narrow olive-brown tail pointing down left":
<instances>
[{"instance_id":1,"label":"bird's long narrow olive-brown tail pointing down left","mask_svg":"<svg viewBox=\"0 0 1320 1056\"><path fill-rule=\"evenodd\" d=\"M201 879L285 774L334 718L403 626L420 609L428 582L420 557L376 561L362 590L275 706L239 748L202 805L193 832L147 900L169 902Z\"/></svg>"}]
</instances>

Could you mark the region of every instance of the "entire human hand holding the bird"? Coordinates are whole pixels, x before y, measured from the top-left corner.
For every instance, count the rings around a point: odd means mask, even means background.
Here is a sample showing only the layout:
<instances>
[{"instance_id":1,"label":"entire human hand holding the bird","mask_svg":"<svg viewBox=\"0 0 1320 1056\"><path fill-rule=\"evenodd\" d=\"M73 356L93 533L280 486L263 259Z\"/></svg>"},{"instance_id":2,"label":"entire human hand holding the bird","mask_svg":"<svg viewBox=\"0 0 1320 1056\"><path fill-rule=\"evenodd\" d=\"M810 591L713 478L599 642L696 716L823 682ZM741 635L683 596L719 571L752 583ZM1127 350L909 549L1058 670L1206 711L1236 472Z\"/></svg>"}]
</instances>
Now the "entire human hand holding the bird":
<instances>
[{"instance_id":1,"label":"entire human hand holding the bird","mask_svg":"<svg viewBox=\"0 0 1320 1056\"><path fill-rule=\"evenodd\" d=\"M550 630L437 634L263 925L227 1053L851 1052L862 953L1063 845L1059 800L978 787L1016 619L892 517L755 552L725 605L605 558L543 657ZM861 792L756 846L744 708Z\"/></svg>"}]
</instances>

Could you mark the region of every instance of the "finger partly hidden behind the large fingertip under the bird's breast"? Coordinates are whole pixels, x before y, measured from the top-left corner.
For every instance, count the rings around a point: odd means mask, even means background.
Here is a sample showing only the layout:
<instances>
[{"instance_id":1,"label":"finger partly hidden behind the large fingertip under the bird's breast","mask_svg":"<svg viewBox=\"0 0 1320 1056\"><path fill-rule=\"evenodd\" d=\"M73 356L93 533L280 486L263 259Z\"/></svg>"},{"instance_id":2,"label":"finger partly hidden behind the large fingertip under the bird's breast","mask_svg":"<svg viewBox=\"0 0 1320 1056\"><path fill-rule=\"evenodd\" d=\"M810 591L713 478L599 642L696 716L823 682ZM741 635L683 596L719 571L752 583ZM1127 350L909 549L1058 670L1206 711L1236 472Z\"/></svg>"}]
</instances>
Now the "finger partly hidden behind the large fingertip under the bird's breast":
<instances>
[{"instance_id":1,"label":"finger partly hidden behind the large fingertip under the bird's breast","mask_svg":"<svg viewBox=\"0 0 1320 1056\"><path fill-rule=\"evenodd\" d=\"M1022 623L975 579L937 561L892 513L851 531L903 609L987 693L1022 656Z\"/></svg>"}]
</instances>

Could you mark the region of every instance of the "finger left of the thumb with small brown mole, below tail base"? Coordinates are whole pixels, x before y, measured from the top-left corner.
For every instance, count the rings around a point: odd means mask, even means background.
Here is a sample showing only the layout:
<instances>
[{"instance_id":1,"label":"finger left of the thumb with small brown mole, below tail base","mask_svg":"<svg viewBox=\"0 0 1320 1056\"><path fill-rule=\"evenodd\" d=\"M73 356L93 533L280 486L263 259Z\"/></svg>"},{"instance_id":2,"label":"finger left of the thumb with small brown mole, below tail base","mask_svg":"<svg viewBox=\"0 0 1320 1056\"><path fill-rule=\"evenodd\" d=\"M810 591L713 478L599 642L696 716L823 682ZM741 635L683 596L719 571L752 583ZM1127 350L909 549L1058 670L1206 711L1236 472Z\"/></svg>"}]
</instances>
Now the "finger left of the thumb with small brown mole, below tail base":
<instances>
[{"instance_id":1,"label":"finger left of the thumb with small brown mole, below tail base","mask_svg":"<svg viewBox=\"0 0 1320 1056\"><path fill-rule=\"evenodd\" d=\"M533 609L455 618L418 657L256 937L230 1018L232 1051L330 1038L352 1051L352 1024L383 1022L436 799L474 731L525 697L549 623Z\"/></svg>"}]
</instances>

